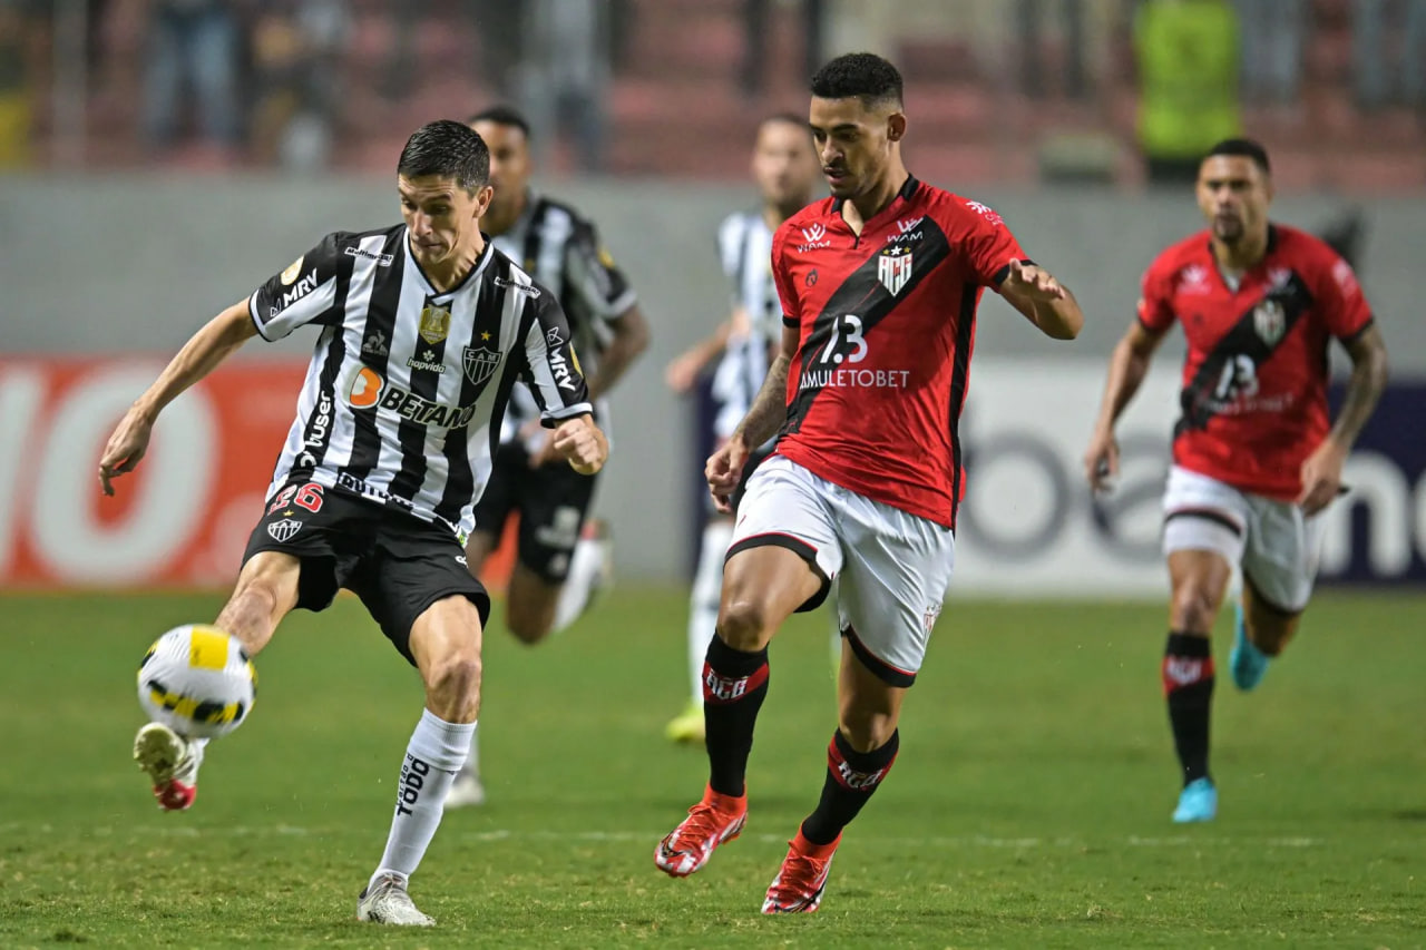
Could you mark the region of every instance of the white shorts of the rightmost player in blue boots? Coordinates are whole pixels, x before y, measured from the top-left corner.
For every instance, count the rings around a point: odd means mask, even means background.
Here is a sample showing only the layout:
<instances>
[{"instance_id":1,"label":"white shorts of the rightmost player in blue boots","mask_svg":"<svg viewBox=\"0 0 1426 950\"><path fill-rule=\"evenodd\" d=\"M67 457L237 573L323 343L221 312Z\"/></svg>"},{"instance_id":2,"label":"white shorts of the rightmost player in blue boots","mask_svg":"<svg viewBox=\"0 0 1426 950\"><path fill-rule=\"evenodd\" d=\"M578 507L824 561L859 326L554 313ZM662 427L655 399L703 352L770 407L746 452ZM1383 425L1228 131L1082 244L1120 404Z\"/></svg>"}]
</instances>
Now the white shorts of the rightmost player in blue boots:
<instances>
[{"instance_id":1,"label":"white shorts of the rightmost player in blue boots","mask_svg":"<svg viewBox=\"0 0 1426 950\"><path fill-rule=\"evenodd\" d=\"M1242 492L1175 465L1164 491L1164 553L1214 551L1242 568L1256 593L1286 613L1308 606L1322 551L1322 516Z\"/></svg>"}]
</instances>

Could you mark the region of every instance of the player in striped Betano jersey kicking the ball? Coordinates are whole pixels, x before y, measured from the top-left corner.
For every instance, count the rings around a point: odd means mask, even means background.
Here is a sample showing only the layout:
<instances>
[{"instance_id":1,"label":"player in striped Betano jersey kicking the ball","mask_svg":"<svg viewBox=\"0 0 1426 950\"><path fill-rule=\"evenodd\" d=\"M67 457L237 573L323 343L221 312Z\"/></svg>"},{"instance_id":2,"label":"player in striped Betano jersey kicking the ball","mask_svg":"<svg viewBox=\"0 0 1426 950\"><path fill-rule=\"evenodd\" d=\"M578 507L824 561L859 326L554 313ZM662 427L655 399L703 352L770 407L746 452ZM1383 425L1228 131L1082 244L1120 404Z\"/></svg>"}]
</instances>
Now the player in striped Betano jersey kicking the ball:
<instances>
[{"instance_id":1,"label":"player in striped Betano jersey kicking the ball","mask_svg":"<svg viewBox=\"0 0 1426 950\"><path fill-rule=\"evenodd\" d=\"M553 428L552 454L593 475L607 456L569 324L555 295L481 234L489 153L461 123L406 141L396 165L405 224L328 234L200 330L134 402L100 459L130 472L160 411L255 335L321 328L237 586L217 626L250 656L294 608L361 596L416 666L425 709L402 759L386 850L358 917L429 926L406 892L441 822L481 702L491 598L465 565L476 465L516 381ZM486 445L482 445L486 444ZM161 807L187 809L205 740L148 723L134 757Z\"/></svg>"}]
</instances>

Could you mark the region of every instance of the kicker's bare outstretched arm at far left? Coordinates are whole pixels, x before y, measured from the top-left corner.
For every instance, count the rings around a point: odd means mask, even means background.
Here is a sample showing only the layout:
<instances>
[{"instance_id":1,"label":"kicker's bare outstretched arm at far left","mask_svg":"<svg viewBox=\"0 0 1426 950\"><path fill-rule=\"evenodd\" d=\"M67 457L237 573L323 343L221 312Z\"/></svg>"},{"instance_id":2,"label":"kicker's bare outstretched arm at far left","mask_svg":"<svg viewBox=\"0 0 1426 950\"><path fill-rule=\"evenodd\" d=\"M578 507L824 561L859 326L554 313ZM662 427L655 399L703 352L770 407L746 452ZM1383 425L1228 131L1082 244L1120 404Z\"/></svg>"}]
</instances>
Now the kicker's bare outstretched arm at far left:
<instances>
[{"instance_id":1,"label":"kicker's bare outstretched arm at far left","mask_svg":"<svg viewBox=\"0 0 1426 950\"><path fill-rule=\"evenodd\" d=\"M210 320L184 344L154 384L128 407L118 428L108 436L104 454L98 459L98 481L106 495L114 494L111 479L134 471L144 458L154 421L164 407L212 372L257 332L257 325L248 317L248 301L242 300Z\"/></svg>"}]
</instances>

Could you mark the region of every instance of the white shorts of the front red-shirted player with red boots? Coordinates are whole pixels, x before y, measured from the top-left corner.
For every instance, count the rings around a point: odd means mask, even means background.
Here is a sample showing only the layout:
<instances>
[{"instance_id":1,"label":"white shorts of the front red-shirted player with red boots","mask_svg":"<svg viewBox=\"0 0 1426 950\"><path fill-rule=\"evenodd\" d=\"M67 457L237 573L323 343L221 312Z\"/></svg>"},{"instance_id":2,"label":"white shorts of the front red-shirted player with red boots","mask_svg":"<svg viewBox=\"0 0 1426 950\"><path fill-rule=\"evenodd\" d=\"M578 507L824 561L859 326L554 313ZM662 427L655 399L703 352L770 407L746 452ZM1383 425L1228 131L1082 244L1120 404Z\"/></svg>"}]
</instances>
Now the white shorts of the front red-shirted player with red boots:
<instances>
[{"instance_id":1,"label":"white shorts of the front red-shirted player with red boots","mask_svg":"<svg viewBox=\"0 0 1426 950\"><path fill-rule=\"evenodd\" d=\"M851 649L893 686L910 686L925 659L955 563L950 528L873 501L774 455L747 482L732 558L763 545L789 548L837 585L837 615Z\"/></svg>"}]
</instances>

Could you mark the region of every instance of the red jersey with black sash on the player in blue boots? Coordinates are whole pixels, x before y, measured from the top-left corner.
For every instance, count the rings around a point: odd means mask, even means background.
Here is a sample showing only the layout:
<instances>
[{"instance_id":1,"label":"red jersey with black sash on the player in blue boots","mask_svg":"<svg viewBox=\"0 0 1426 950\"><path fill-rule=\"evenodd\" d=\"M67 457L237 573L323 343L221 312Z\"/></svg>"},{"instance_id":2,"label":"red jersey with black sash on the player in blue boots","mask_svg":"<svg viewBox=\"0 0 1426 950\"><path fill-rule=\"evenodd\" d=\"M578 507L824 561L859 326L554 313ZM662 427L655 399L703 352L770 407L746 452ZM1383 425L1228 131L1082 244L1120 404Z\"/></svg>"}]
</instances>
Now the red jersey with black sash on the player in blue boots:
<instances>
[{"instance_id":1,"label":"red jersey with black sash on the player in blue boots","mask_svg":"<svg viewBox=\"0 0 1426 950\"><path fill-rule=\"evenodd\" d=\"M1144 274L1138 318L1184 327L1174 462L1233 488L1295 501L1302 462L1326 438L1328 342L1372 322L1352 267L1319 238L1272 225L1268 252L1225 280L1208 231Z\"/></svg>"}]
</instances>

